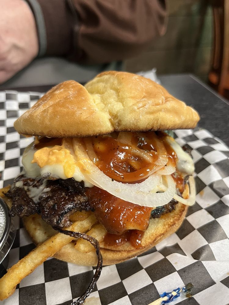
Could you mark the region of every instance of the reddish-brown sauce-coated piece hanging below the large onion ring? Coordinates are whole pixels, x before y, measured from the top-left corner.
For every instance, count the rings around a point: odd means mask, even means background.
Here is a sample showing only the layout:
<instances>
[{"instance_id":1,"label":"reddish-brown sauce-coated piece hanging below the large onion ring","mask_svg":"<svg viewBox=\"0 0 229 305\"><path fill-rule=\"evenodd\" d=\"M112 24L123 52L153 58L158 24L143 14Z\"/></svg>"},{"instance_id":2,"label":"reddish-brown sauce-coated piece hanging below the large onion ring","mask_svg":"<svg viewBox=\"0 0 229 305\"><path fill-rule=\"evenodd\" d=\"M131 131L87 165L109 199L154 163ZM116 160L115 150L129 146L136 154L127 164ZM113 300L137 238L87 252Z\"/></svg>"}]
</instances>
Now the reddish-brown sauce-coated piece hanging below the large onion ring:
<instances>
[{"instance_id":1,"label":"reddish-brown sauce-coated piece hanging below the large onion ring","mask_svg":"<svg viewBox=\"0 0 229 305\"><path fill-rule=\"evenodd\" d=\"M141 248L151 208L124 201L96 186L88 188L86 195L96 218L107 230L104 238L107 245L119 246L129 241L136 249Z\"/></svg>"}]
</instances>

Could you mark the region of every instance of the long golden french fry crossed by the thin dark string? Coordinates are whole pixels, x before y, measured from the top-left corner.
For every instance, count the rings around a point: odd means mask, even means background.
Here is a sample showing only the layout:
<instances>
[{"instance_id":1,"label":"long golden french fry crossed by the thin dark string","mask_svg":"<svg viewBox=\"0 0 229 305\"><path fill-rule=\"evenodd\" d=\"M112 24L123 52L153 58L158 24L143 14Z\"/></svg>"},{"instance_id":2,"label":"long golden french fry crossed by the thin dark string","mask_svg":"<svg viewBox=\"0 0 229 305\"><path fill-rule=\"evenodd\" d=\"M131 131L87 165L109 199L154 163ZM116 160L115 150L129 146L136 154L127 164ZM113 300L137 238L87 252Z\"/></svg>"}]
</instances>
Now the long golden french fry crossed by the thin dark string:
<instances>
[{"instance_id":1,"label":"long golden french fry crossed by the thin dark string","mask_svg":"<svg viewBox=\"0 0 229 305\"><path fill-rule=\"evenodd\" d=\"M83 221L76 221L67 230L85 232L88 231L96 218L92 214ZM62 233L51 236L45 242L38 245L34 250L27 254L17 264L11 267L8 272L0 278L0 300L8 298L20 281L34 271L36 267L42 264L48 257L52 257L63 246L67 245L74 238Z\"/></svg>"}]
</instances>

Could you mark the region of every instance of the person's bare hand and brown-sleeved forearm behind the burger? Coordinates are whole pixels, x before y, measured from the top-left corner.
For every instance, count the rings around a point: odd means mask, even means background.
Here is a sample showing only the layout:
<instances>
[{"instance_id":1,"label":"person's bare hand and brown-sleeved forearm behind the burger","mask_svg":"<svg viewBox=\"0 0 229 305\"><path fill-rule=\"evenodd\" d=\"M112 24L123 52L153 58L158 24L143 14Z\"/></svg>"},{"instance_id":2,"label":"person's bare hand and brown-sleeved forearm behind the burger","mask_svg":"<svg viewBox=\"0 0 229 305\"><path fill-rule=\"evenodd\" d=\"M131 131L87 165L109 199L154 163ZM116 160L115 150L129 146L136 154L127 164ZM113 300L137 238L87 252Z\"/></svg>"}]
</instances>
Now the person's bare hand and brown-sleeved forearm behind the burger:
<instances>
[{"instance_id":1,"label":"person's bare hand and brown-sleeved forearm behind the burger","mask_svg":"<svg viewBox=\"0 0 229 305\"><path fill-rule=\"evenodd\" d=\"M162 34L164 23L165 0L1 0L0 83L36 56L129 58Z\"/></svg>"}]
</instances>

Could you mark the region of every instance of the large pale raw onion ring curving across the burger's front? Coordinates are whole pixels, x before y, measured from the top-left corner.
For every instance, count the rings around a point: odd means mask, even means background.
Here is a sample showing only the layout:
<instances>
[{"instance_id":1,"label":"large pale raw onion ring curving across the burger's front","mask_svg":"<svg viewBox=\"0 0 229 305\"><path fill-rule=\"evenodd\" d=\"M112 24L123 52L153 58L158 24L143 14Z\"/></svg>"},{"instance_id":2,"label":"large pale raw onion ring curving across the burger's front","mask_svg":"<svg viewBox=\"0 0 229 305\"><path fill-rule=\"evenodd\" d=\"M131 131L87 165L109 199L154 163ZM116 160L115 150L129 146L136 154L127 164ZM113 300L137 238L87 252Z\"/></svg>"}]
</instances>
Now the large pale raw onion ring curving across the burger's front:
<instances>
[{"instance_id":1,"label":"large pale raw onion ring curving across the burger's front","mask_svg":"<svg viewBox=\"0 0 229 305\"><path fill-rule=\"evenodd\" d=\"M163 149L163 148L162 148ZM93 185L102 188L110 194L140 206L156 207L165 205L173 198L186 205L192 205L195 198L195 185L193 177L189 178L190 198L184 199L176 195L176 183L171 175L151 174L141 183L127 184L112 181L88 157L86 149L80 139L73 140L73 150L79 160L79 168L85 179ZM167 156L166 159L168 160ZM164 160L165 161L165 160ZM167 163L167 162L166 162ZM162 179L161 179L162 178ZM163 183L160 182L162 180ZM166 184L166 185L165 185ZM156 193L163 191L161 193Z\"/></svg>"}]
</instances>

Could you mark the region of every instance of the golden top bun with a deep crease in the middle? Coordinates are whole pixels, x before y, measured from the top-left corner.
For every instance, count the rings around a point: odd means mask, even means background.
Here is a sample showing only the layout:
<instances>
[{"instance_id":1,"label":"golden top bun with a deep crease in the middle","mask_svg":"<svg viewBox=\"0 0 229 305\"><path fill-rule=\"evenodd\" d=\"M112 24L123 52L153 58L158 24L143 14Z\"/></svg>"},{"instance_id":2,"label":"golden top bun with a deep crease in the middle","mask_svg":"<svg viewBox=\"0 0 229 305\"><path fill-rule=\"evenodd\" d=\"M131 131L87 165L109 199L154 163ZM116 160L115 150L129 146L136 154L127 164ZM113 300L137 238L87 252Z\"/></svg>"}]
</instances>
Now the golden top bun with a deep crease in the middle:
<instances>
[{"instance_id":1,"label":"golden top bun with a deep crease in the middle","mask_svg":"<svg viewBox=\"0 0 229 305\"><path fill-rule=\"evenodd\" d=\"M65 81L49 90L15 123L23 135L54 138L113 131L194 128L198 113L148 78L108 71L85 87Z\"/></svg>"}]
</instances>

